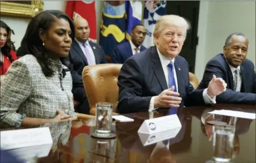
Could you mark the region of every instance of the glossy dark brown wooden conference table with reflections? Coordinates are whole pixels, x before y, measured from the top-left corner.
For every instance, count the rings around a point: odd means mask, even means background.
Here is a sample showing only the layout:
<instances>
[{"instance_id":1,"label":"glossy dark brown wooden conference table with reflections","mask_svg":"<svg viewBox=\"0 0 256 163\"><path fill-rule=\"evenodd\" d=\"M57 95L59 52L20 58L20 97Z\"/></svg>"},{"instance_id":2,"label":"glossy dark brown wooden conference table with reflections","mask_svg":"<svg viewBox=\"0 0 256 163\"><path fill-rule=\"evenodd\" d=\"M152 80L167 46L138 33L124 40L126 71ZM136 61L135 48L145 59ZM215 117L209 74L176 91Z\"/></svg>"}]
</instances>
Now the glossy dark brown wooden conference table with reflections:
<instances>
[{"instance_id":1,"label":"glossy dark brown wooden conference table with reflections","mask_svg":"<svg viewBox=\"0 0 256 163\"><path fill-rule=\"evenodd\" d=\"M254 105L216 104L210 107L179 108L177 116L181 130L169 140L169 150L156 152L157 163L171 162L212 162L213 148L211 140L212 125L202 123L208 112L219 109L255 113ZM38 162L113 162L148 163L156 144L143 146L138 129L144 120L167 116L168 109L155 112L123 114L133 118L133 122L113 122L114 139L96 139L90 135L95 131L94 118L72 121L70 137L67 143L56 142L47 157L38 158ZM211 116L210 116L211 117ZM228 116L227 116L228 117ZM222 121L227 120L222 116ZM230 118L229 118L230 121ZM161 150L161 149L159 149ZM236 119L236 132L232 162L255 163L255 120Z\"/></svg>"}]
</instances>

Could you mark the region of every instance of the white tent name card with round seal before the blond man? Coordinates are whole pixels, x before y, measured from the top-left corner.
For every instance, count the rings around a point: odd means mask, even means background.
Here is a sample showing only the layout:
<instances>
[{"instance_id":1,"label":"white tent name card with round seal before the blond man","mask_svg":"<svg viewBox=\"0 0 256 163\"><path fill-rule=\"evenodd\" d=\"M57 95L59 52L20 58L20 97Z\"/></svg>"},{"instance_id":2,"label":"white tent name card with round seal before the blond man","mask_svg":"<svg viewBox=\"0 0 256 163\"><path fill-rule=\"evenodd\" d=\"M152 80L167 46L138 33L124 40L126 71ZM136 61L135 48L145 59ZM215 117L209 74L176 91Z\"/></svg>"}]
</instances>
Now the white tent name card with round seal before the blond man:
<instances>
[{"instance_id":1,"label":"white tent name card with round seal before the blond man","mask_svg":"<svg viewBox=\"0 0 256 163\"><path fill-rule=\"evenodd\" d=\"M146 120L140 126L138 133L155 134L166 130L181 129L181 122L177 114Z\"/></svg>"}]
</instances>

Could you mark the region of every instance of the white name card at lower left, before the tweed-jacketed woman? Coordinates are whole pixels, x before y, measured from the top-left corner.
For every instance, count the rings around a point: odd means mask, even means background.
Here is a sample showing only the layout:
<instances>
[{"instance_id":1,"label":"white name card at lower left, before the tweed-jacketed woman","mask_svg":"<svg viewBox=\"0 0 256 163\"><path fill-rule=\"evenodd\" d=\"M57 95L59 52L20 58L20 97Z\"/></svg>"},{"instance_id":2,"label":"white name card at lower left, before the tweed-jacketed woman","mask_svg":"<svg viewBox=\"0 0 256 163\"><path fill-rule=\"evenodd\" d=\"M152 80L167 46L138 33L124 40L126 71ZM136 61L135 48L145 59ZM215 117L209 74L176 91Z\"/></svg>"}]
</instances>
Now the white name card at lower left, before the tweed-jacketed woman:
<instances>
[{"instance_id":1,"label":"white name card at lower left, before the tweed-jacketed woman","mask_svg":"<svg viewBox=\"0 0 256 163\"><path fill-rule=\"evenodd\" d=\"M49 127L1 131L1 148L16 149L53 144Z\"/></svg>"}]
</instances>

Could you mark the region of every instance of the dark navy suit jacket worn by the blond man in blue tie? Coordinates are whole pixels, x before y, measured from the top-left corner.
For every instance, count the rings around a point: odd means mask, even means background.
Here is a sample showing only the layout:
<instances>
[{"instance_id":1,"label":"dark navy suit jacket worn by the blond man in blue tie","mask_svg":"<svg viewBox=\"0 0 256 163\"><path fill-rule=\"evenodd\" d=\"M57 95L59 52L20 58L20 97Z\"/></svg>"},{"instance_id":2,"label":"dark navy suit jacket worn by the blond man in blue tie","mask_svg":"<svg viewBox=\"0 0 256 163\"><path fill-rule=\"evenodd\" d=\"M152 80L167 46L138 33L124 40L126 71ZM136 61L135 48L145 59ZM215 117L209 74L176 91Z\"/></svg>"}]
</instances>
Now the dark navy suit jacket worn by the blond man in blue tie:
<instances>
[{"instance_id":1,"label":"dark navy suit jacket worn by the blond man in blue tie","mask_svg":"<svg viewBox=\"0 0 256 163\"><path fill-rule=\"evenodd\" d=\"M184 105L202 105L203 90L194 90L189 82L189 65L181 56L174 61L176 69L178 92ZM157 54L156 47L150 47L133 55L123 64L119 77L119 113L139 112L148 110L152 96L159 95L168 89L164 71Z\"/></svg>"}]
</instances>

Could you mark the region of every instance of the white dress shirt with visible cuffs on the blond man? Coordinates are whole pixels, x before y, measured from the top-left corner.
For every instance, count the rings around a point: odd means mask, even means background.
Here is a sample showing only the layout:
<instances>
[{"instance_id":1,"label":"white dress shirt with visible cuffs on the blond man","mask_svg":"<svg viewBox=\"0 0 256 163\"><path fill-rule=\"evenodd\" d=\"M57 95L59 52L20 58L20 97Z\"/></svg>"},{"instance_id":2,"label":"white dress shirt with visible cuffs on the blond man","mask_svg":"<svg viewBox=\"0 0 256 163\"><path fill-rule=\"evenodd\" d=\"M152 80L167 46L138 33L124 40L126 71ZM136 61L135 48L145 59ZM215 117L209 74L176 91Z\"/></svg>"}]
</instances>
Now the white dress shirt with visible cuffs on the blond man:
<instances>
[{"instance_id":1,"label":"white dress shirt with visible cuffs on the blond man","mask_svg":"<svg viewBox=\"0 0 256 163\"><path fill-rule=\"evenodd\" d=\"M174 65L174 61L175 61L175 58L172 59L172 60L169 60L168 58L166 58L163 54L160 53L160 51L157 49L157 53L159 55L159 58L160 58L160 61L161 61L161 65L163 67L163 70L164 70L164 76L165 76L165 80L167 81L167 85L169 85L169 68L168 68L168 64L170 63L170 61L173 62L173 65ZM177 81L177 74L176 74L176 69L173 68L173 72L174 72L174 80L175 80L175 83L176 83L176 88L177 88L177 92L178 92L178 81ZM150 100L150 107L149 107L149 111L153 111L155 109L157 109L155 107L155 104L154 104L154 99L155 99L155 96L153 96ZM216 96L214 98L211 98L208 94L207 94L207 89L204 89L203 91L203 100L206 104L215 104L216 103Z\"/></svg>"}]
</instances>

